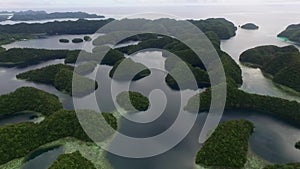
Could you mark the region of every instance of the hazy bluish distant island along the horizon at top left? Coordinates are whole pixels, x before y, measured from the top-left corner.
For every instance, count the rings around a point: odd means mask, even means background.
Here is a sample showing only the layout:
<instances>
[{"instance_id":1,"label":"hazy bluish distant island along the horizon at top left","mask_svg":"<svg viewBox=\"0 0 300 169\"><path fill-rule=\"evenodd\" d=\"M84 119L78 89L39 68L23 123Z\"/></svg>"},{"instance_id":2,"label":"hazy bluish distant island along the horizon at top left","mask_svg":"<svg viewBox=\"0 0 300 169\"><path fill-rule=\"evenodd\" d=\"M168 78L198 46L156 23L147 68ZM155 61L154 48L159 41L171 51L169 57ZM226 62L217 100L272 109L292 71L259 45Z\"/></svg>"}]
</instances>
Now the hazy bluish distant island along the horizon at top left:
<instances>
[{"instance_id":1,"label":"hazy bluish distant island along the horizon at top left","mask_svg":"<svg viewBox=\"0 0 300 169\"><path fill-rule=\"evenodd\" d=\"M67 18L105 18L101 15L88 14L85 12L53 12L47 13L46 11L20 11L20 12L11 12L13 16L8 19L4 17L2 21L12 20L12 21L33 21L33 20L47 20L47 19L67 19ZM4 15L7 16L7 15Z\"/></svg>"}]
</instances>

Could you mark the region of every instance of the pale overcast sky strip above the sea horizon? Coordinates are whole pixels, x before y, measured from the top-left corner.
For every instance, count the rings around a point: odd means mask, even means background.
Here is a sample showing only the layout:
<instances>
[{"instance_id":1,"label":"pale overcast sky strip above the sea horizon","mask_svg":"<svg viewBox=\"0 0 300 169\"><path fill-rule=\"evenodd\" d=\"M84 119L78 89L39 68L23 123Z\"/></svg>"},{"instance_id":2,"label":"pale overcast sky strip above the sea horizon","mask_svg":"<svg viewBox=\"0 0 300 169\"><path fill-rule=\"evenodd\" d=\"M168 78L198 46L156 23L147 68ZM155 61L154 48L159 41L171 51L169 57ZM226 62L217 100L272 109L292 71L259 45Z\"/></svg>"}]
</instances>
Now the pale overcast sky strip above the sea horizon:
<instances>
[{"instance_id":1,"label":"pale overcast sky strip above the sea horizon","mask_svg":"<svg viewBox=\"0 0 300 169\"><path fill-rule=\"evenodd\" d=\"M97 7L115 5L161 5L161 4L265 4L291 3L300 0L0 0L0 9L13 8L56 8L56 7Z\"/></svg>"}]
</instances>

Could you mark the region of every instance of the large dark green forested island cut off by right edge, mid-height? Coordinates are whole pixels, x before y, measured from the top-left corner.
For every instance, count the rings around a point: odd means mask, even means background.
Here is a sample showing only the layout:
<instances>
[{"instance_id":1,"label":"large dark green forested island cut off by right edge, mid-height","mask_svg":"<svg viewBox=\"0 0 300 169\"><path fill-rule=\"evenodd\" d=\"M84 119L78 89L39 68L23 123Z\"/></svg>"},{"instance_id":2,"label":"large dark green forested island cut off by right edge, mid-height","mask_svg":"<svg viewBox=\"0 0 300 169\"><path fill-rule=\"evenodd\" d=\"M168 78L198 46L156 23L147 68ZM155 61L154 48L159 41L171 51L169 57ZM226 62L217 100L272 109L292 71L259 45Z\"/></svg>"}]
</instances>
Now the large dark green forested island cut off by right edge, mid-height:
<instances>
[{"instance_id":1,"label":"large dark green forested island cut off by right edge, mid-height","mask_svg":"<svg viewBox=\"0 0 300 169\"><path fill-rule=\"evenodd\" d=\"M242 53L240 61L260 68L274 82L300 92L300 52L294 46L260 46Z\"/></svg>"}]
</instances>

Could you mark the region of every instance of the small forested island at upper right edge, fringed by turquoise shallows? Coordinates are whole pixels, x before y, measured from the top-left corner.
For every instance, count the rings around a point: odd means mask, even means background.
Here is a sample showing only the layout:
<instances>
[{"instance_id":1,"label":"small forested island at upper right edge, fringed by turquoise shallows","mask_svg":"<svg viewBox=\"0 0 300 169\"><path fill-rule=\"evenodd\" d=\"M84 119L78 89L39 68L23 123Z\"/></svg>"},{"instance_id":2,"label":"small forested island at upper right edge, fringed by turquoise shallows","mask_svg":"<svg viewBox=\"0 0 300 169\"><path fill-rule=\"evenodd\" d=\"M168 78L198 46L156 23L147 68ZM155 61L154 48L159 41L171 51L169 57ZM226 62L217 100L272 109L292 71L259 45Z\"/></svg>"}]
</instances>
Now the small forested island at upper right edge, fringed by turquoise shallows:
<instances>
[{"instance_id":1,"label":"small forested island at upper right edge, fringed by turquoise shallows","mask_svg":"<svg viewBox=\"0 0 300 169\"><path fill-rule=\"evenodd\" d=\"M290 41L300 43L300 24L288 26L278 37L287 38Z\"/></svg>"}]
</instances>

